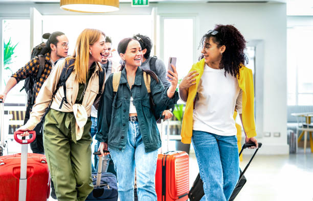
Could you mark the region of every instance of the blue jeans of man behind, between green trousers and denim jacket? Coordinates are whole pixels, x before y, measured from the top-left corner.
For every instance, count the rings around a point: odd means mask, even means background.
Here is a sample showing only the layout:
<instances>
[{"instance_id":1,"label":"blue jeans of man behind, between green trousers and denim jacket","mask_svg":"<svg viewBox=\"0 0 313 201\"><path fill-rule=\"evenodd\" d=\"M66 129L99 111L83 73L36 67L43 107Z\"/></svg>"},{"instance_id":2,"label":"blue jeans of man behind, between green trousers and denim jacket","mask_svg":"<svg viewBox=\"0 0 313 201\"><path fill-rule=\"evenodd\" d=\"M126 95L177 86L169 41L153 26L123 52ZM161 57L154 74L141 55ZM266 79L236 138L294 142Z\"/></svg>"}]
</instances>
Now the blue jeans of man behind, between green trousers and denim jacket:
<instances>
[{"instance_id":1,"label":"blue jeans of man behind, between green trousers and denim jacket","mask_svg":"<svg viewBox=\"0 0 313 201\"><path fill-rule=\"evenodd\" d=\"M97 118L96 117L91 117L91 120L92 120L92 127L91 127L90 134L91 134L92 138L94 139L94 136L96 135L96 133L98 131L98 128L97 128ZM92 150L94 152L97 152L97 150L98 150L98 148L100 146L100 142L96 141L96 142L93 142L92 145L93 144L94 144L94 147L92 147ZM97 156L92 155L92 164L91 164L92 165L92 172L97 172L98 171L98 160L99 160L99 158ZM103 160L102 160L102 172L106 172L107 171L109 162L110 162L109 156L108 155L104 156Z\"/></svg>"}]
</instances>

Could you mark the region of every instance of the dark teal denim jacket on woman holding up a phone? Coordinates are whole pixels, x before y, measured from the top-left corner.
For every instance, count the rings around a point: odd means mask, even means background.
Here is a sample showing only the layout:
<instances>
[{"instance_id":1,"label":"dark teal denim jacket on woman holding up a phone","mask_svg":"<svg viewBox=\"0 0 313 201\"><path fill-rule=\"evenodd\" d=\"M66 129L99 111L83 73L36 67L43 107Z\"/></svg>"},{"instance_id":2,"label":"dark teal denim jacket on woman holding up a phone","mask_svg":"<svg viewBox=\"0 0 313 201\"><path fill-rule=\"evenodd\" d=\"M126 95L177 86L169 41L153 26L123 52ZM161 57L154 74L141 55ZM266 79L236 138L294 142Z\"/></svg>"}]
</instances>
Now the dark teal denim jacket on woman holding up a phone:
<instances>
[{"instance_id":1,"label":"dark teal denim jacket on woman holding up a phone","mask_svg":"<svg viewBox=\"0 0 313 201\"><path fill-rule=\"evenodd\" d=\"M136 71L135 83L129 88L126 78L125 68L122 70L118 92L114 96L113 74L108 77L104 95L101 97L98 109L98 132L96 139L106 142L108 146L115 150L124 150L127 142L128 114L130 95L135 104L139 127L145 145L146 152L152 152L161 147L160 133L155 119L159 119L164 110L171 108L178 100L178 93L175 92L172 98L167 96L167 89L164 89L162 82L155 81L151 77L151 93L154 101L154 114L149 102L143 70L138 67Z\"/></svg>"}]
</instances>

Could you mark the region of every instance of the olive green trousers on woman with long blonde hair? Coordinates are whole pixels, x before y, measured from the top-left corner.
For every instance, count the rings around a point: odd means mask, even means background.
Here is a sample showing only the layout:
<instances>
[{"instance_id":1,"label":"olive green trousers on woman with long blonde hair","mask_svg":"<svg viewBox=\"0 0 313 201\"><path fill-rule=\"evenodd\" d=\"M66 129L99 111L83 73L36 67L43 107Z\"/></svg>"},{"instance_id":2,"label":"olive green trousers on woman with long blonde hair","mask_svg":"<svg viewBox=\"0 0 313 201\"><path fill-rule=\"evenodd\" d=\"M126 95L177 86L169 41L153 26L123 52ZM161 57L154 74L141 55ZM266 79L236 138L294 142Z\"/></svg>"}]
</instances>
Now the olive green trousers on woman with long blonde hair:
<instances>
[{"instance_id":1,"label":"olive green trousers on woman with long blonde hair","mask_svg":"<svg viewBox=\"0 0 313 201\"><path fill-rule=\"evenodd\" d=\"M60 113L50 110L44 122L44 152L51 179L59 201L85 200L94 189L91 178L92 122L87 120L81 139L76 141L69 129L71 124L65 126L69 118ZM73 124L72 118L70 121Z\"/></svg>"}]
</instances>

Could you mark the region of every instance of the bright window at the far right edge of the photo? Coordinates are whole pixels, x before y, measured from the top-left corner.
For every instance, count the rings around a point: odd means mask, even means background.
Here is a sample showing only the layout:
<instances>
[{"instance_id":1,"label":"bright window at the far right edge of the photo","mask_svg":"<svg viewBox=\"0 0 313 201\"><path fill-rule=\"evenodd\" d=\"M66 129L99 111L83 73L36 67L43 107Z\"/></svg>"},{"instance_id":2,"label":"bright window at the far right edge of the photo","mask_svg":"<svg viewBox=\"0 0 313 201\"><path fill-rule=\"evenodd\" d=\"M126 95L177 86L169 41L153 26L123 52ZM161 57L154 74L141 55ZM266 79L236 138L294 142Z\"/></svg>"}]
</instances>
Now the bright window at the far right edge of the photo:
<instances>
[{"instance_id":1,"label":"bright window at the far right edge of the photo","mask_svg":"<svg viewBox=\"0 0 313 201\"><path fill-rule=\"evenodd\" d=\"M313 27L287 29L287 105L313 105Z\"/></svg>"}]
</instances>

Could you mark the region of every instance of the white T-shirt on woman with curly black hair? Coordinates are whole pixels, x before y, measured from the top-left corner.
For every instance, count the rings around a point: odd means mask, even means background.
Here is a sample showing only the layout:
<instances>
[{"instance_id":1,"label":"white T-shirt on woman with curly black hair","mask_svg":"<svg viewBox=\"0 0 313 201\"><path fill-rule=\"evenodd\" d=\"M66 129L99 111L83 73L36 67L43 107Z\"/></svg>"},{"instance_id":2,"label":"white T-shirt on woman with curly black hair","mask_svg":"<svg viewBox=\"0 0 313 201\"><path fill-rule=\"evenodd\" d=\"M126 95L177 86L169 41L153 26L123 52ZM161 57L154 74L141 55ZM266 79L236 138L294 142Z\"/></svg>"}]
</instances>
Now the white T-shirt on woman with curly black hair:
<instances>
[{"instance_id":1,"label":"white T-shirt on woman with curly black hair","mask_svg":"<svg viewBox=\"0 0 313 201\"><path fill-rule=\"evenodd\" d=\"M221 136L236 135L234 110L242 113L242 90L224 69L205 65L193 110L193 130Z\"/></svg>"}]
</instances>

